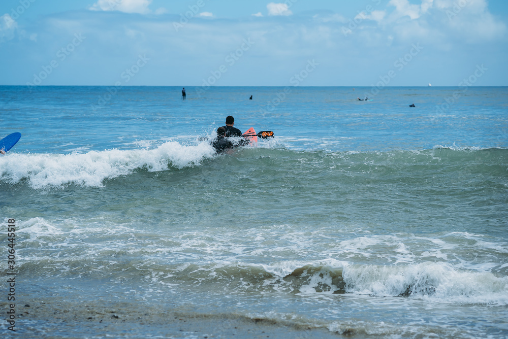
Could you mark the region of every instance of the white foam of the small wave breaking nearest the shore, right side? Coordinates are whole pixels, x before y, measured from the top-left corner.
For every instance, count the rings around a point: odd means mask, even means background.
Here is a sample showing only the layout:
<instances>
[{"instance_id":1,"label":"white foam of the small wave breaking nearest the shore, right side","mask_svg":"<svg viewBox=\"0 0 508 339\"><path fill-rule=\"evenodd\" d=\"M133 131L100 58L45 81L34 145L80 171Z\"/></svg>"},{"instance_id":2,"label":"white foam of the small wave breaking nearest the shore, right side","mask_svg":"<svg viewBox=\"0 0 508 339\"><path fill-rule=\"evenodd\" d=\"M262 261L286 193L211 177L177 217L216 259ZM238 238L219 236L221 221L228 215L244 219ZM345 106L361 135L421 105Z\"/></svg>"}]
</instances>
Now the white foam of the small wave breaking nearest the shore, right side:
<instances>
[{"instance_id":1,"label":"white foam of the small wave breaking nearest the shore, right side","mask_svg":"<svg viewBox=\"0 0 508 339\"><path fill-rule=\"evenodd\" d=\"M436 302L508 305L508 277L457 270L445 263L348 265L342 275L348 293L386 297L409 292Z\"/></svg>"}]
</instances>

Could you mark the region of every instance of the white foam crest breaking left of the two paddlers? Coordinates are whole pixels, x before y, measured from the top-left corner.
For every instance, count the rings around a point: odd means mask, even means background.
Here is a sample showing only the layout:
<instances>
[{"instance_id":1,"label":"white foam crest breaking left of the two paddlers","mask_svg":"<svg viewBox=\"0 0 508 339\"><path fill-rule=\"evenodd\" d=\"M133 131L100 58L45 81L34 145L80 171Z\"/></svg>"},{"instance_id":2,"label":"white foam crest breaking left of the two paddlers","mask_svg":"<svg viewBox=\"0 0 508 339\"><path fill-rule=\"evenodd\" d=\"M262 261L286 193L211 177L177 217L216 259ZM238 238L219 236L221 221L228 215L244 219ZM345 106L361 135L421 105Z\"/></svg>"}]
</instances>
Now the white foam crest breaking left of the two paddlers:
<instances>
[{"instance_id":1,"label":"white foam crest breaking left of the two paddlers","mask_svg":"<svg viewBox=\"0 0 508 339\"><path fill-rule=\"evenodd\" d=\"M90 151L85 154L10 154L0 158L0 180L11 184L27 178L33 188L78 184L102 186L105 179L131 174L137 168L165 171L168 165L179 169L199 165L211 158L208 143L182 146L169 141L155 149Z\"/></svg>"}]
</instances>

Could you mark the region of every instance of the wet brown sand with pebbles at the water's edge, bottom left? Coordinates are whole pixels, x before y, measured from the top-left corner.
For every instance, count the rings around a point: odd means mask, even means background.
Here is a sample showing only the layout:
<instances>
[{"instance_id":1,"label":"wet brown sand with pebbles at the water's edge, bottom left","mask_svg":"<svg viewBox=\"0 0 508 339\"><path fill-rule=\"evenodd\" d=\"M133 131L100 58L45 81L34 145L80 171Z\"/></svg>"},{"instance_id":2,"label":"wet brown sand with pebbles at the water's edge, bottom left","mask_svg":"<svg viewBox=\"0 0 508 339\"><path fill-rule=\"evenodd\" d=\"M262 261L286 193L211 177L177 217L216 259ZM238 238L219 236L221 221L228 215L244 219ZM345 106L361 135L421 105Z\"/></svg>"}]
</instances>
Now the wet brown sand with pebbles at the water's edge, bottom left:
<instances>
[{"instance_id":1,"label":"wet brown sand with pebbles at the water's edge, bottom left","mask_svg":"<svg viewBox=\"0 0 508 339\"><path fill-rule=\"evenodd\" d=\"M32 301L16 306L16 336L23 338L337 338L325 327L234 314L182 313L152 308L133 310L130 303L69 304ZM26 306L28 305L28 306ZM7 307L2 304L2 309ZM3 331L7 327L3 328ZM10 331L8 331L10 332ZM346 331L351 337L351 332ZM362 337L356 336L354 337Z\"/></svg>"}]
</instances>

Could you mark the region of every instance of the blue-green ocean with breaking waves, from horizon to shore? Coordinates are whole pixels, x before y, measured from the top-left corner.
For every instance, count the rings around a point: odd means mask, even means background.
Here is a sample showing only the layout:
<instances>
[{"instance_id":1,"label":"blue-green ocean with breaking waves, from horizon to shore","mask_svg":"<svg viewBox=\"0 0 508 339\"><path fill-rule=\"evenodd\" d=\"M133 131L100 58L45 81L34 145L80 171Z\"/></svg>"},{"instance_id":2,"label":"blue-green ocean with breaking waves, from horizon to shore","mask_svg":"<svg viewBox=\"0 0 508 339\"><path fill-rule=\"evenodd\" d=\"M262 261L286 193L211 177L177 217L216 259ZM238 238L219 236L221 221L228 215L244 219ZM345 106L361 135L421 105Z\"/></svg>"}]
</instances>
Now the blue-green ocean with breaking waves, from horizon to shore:
<instances>
[{"instance_id":1,"label":"blue-green ocean with breaking waves, from horizon to shore","mask_svg":"<svg viewBox=\"0 0 508 339\"><path fill-rule=\"evenodd\" d=\"M0 86L2 333L508 338L508 87L186 94Z\"/></svg>"}]
</instances>

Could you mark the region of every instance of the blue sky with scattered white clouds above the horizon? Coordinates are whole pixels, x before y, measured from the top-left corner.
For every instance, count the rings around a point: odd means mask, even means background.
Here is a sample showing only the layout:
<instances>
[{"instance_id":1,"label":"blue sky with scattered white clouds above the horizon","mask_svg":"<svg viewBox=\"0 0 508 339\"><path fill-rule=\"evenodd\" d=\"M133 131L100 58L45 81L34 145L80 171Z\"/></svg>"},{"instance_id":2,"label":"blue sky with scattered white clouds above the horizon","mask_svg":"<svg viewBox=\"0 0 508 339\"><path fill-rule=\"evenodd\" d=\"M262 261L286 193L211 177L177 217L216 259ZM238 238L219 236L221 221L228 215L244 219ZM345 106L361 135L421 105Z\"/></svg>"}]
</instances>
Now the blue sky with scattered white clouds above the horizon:
<instances>
[{"instance_id":1,"label":"blue sky with scattered white clouds above the horizon","mask_svg":"<svg viewBox=\"0 0 508 339\"><path fill-rule=\"evenodd\" d=\"M0 85L506 86L507 19L505 0L3 0Z\"/></svg>"}]
</instances>

